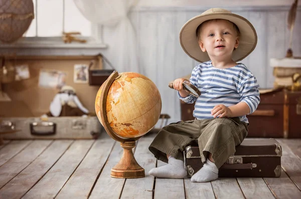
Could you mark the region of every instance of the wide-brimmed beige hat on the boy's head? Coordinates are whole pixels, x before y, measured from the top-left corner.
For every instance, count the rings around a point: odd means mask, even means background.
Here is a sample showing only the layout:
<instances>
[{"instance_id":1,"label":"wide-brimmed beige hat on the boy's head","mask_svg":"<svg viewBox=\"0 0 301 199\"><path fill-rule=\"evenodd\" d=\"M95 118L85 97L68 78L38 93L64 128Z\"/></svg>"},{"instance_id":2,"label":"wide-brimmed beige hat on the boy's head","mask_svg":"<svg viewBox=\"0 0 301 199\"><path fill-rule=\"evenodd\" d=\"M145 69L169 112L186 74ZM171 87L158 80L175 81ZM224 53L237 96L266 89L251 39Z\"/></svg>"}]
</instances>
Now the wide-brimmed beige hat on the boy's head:
<instances>
[{"instance_id":1,"label":"wide-brimmed beige hat on the boy's head","mask_svg":"<svg viewBox=\"0 0 301 199\"><path fill-rule=\"evenodd\" d=\"M244 59L255 49L257 34L247 19L225 9L213 8L190 19L182 27L180 31L180 44L187 55L198 62L207 62L210 60L207 52L203 52L199 46L196 30L203 22L215 19L233 22L239 29L239 46L232 53L233 61L237 62Z\"/></svg>"}]
</instances>

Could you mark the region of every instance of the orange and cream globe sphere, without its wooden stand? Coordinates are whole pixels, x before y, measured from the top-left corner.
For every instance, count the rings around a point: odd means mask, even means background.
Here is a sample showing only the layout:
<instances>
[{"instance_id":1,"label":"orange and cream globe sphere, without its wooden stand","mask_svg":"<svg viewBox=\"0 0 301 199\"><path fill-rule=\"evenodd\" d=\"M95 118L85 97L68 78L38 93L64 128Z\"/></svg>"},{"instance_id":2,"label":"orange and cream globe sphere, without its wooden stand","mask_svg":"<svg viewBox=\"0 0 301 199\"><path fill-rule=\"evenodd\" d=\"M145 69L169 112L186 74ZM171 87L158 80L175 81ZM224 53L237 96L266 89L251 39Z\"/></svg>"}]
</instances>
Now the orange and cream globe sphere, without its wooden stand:
<instances>
[{"instance_id":1,"label":"orange and cream globe sphere, without its wooden stand","mask_svg":"<svg viewBox=\"0 0 301 199\"><path fill-rule=\"evenodd\" d=\"M121 138L140 137L156 125L162 102L154 82L139 73L120 73L110 85L104 101L101 93L105 83L99 88L95 99L95 111L102 125L102 103L105 103L103 114L110 128Z\"/></svg>"}]
</instances>

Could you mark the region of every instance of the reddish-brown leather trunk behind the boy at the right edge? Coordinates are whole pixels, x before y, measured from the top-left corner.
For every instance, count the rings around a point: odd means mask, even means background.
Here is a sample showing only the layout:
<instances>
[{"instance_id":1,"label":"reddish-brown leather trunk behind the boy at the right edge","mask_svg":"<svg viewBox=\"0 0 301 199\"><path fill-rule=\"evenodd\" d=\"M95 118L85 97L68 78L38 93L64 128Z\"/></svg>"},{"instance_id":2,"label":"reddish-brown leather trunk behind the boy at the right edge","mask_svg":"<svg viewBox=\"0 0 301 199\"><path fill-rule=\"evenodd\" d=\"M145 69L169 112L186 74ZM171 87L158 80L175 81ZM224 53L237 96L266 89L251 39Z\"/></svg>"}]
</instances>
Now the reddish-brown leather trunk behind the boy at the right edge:
<instances>
[{"instance_id":1,"label":"reddish-brown leather trunk behind the boy at the right edge","mask_svg":"<svg viewBox=\"0 0 301 199\"><path fill-rule=\"evenodd\" d=\"M301 138L301 91L260 93L256 111L247 118L248 137Z\"/></svg>"}]
</instances>

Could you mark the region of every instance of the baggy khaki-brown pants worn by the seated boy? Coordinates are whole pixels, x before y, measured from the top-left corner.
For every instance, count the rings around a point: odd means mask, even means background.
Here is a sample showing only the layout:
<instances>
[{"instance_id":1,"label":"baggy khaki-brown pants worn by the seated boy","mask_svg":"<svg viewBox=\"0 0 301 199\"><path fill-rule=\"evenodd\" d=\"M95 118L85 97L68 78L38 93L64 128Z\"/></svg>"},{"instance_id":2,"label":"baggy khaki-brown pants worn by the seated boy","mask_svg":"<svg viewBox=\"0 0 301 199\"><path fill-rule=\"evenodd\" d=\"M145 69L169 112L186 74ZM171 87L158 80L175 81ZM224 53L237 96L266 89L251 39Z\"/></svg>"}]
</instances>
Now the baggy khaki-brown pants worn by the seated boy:
<instances>
[{"instance_id":1,"label":"baggy khaki-brown pants worn by the seated boy","mask_svg":"<svg viewBox=\"0 0 301 199\"><path fill-rule=\"evenodd\" d=\"M164 162L168 162L166 154L184 160L185 146L195 143L199 145L202 162L206 162L210 152L220 168L247 136L247 127L238 117L180 121L163 127L148 149Z\"/></svg>"}]
</instances>

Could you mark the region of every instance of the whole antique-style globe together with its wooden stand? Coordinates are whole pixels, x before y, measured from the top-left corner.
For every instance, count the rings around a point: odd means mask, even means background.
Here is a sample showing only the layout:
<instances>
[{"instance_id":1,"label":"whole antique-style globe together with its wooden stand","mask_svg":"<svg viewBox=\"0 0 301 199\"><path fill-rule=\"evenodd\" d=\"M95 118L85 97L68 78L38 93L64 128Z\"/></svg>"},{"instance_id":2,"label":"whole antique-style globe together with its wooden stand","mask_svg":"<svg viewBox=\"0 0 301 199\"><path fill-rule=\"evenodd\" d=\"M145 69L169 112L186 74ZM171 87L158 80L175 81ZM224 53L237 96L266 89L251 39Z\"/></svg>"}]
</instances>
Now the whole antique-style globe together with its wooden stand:
<instances>
[{"instance_id":1,"label":"whole antique-style globe together with its wooden stand","mask_svg":"<svg viewBox=\"0 0 301 199\"><path fill-rule=\"evenodd\" d=\"M96 115L106 132L123 147L123 155L111 169L111 177L145 176L132 148L137 139L156 125L161 108L158 88L139 73L114 71L101 85L95 98Z\"/></svg>"}]
</instances>

